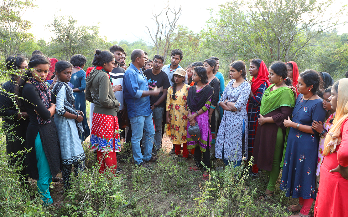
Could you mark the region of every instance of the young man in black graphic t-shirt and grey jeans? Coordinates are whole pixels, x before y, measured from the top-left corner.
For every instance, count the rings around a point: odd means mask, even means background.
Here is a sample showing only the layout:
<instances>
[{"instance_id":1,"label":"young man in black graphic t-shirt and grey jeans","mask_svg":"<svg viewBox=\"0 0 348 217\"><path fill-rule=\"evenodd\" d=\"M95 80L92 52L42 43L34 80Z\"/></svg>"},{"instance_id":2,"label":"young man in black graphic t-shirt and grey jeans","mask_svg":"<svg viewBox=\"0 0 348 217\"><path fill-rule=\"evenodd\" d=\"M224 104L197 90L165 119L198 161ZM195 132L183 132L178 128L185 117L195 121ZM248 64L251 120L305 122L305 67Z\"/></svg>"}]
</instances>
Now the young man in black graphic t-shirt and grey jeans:
<instances>
[{"instance_id":1,"label":"young man in black graphic t-shirt and grey jeans","mask_svg":"<svg viewBox=\"0 0 348 217\"><path fill-rule=\"evenodd\" d=\"M144 75L148 79L149 90L160 89L158 96L150 96L152 118L155 122L155 149L153 154L157 155L158 149L161 148L162 141L162 122L163 114L166 107L167 90L170 87L168 75L161 70L163 66L164 57L161 55L155 55L153 57L152 69L147 69L144 71Z\"/></svg>"}]
</instances>

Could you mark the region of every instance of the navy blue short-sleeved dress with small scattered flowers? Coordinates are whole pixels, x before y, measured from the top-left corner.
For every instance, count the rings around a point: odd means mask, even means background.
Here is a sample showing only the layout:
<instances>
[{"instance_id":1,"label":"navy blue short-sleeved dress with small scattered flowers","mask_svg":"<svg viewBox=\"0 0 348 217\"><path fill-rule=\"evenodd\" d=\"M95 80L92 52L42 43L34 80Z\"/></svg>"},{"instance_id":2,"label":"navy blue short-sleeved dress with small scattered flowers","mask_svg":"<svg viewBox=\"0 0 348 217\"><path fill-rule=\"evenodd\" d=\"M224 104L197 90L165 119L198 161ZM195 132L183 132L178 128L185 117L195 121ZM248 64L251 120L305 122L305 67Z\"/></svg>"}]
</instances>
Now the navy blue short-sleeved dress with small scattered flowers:
<instances>
[{"instance_id":1,"label":"navy blue short-sleeved dress with small scattered flowers","mask_svg":"<svg viewBox=\"0 0 348 217\"><path fill-rule=\"evenodd\" d=\"M296 99L292 111L292 121L311 126L313 120L324 121L326 111L322 99L303 100L302 94ZM319 136L304 133L291 127L287 139L280 190L286 191L286 197L316 198L315 170L318 161Z\"/></svg>"}]
</instances>

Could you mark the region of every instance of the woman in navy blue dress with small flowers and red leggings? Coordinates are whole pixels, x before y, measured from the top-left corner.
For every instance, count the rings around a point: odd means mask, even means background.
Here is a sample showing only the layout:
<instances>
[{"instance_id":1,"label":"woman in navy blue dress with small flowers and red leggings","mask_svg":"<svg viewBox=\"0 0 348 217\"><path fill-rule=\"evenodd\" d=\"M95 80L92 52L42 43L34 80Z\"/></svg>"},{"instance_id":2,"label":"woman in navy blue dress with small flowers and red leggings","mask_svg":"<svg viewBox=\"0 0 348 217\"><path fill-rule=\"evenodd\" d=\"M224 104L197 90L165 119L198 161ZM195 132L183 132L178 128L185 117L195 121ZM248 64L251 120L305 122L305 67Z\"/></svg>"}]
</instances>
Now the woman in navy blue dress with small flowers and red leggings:
<instances>
[{"instance_id":1,"label":"woman in navy blue dress with small flowers and red leggings","mask_svg":"<svg viewBox=\"0 0 348 217\"><path fill-rule=\"evenodd\" d=\"M288 207L288 212L300 211L294 217L308 216L313 200L316 198L315 171L317 167L319 133L312 129L313 121L323 122L326 111L318 96L322 78L312 69L307 69L298 77L296 85L299 93L291 117L284 120L290 127L285 155L282 163L283 173L280 190L286 197L299 198L299 204Z\"/></svg>"}]
</instances>

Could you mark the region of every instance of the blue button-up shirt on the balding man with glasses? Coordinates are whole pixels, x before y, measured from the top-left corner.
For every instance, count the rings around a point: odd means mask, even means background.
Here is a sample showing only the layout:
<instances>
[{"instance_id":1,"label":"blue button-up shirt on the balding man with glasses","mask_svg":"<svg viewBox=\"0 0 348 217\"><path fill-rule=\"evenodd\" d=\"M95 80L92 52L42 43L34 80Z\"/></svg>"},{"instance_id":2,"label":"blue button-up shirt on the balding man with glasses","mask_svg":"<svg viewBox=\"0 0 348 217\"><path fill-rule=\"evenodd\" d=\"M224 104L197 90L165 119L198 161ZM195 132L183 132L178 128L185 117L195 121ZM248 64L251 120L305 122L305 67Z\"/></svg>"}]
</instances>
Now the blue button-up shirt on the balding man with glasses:
<instances>
[{"instance_id":1,"label":"blue button-up shirt on the balding man with glasses","mask_svg":"<svg viewBox=\"0 0 348 217\"><path fill-rule=\"evenodd\" d=\"M150 96L141 97L143 91L149 91L148 80L142 70L131 63L123 75L123 92L128 118L151 115Z\"/></svg>"}]
</instances>

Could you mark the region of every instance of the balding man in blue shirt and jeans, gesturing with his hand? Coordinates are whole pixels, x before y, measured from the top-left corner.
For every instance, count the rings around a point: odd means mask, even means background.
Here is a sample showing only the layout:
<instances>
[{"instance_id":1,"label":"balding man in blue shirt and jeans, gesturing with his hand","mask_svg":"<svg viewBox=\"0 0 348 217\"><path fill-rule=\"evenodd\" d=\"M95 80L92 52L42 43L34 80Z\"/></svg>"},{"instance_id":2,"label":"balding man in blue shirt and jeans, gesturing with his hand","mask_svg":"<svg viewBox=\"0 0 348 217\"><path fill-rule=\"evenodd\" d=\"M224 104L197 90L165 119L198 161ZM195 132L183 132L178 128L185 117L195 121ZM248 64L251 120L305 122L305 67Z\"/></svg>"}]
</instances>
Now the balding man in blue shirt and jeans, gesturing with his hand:
<instances>
[{"instance_id":1,"label":"balding man in blue shirt and jeans, gesturing with his hand","mask_svg":"<svg viewBox=\"0 0 348 217\"><path fill-rule=\"evenodd\" d=\"M145 53L143 50L135 49L130 55L132 63L123 75L123 88L127 104L128 118L132 125L132 151L135 163L139 166L149 168L146 162L155 162L157 158L152 157L151 151L155 136L155 128L152 122L152 110L150 95L157 96L159 90L149 91L148 80L144 76L141 67L145 64ZM140 140L144 132L144 156L140 149Z\"/></svg>"}]
</instances>

